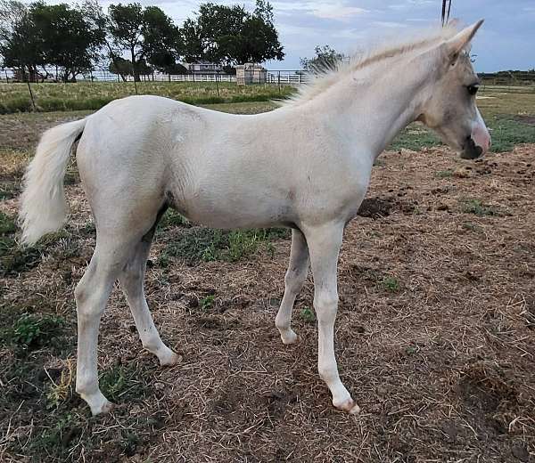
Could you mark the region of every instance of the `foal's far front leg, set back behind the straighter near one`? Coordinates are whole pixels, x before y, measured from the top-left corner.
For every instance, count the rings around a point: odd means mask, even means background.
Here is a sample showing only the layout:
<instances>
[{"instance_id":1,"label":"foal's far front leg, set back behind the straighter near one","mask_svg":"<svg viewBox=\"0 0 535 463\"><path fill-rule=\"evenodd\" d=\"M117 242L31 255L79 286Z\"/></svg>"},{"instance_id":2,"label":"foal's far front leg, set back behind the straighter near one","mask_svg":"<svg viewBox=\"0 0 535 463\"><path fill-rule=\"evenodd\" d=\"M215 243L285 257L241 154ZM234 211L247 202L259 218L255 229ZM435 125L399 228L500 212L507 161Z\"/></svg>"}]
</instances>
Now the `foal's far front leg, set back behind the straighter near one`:
<instances>
[{"instance_id":1,"label":"foal's far front leg, set back behind the straighter near one","mask_svg":"<svg viewBox=\"0 0 535 463\"><path fill-rule=\"evenodd\" d=\"M290 264L288 264L288 271L284 276L284 296L275 318L275 326L279 330L284 344L292 344L297 341L297 335L291 328L292 308L295 298L307 280L308 272L309 248L307 240L301 231L292 230Z\"/></svg>"}]
</instances>

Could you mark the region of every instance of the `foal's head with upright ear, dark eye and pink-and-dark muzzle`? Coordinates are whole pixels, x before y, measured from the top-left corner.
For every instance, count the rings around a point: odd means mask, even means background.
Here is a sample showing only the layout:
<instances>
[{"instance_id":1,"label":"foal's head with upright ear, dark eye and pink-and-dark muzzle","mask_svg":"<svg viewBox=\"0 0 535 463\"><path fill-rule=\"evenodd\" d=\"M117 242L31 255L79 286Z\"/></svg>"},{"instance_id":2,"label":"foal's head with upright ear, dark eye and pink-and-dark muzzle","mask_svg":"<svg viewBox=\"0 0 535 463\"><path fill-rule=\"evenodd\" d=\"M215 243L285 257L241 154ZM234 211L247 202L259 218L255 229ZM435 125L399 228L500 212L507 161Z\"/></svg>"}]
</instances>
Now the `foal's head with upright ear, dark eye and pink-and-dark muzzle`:
<instances>
[{"instance_id":1,"label":"foal's head with upright ear, dark eye and pink-and-dark muzzle","mask_svg":"<svg viewBox=\"0 0 535 463\"><path fill-rule=\"evenodd\" d=\"M461 158L480 158L490 134L475 105L479 79L470 61L470 41L483 20L458 32L439 47L437 82L429 86L418 120L432 128Z\"/></svg>"}]
</instances>

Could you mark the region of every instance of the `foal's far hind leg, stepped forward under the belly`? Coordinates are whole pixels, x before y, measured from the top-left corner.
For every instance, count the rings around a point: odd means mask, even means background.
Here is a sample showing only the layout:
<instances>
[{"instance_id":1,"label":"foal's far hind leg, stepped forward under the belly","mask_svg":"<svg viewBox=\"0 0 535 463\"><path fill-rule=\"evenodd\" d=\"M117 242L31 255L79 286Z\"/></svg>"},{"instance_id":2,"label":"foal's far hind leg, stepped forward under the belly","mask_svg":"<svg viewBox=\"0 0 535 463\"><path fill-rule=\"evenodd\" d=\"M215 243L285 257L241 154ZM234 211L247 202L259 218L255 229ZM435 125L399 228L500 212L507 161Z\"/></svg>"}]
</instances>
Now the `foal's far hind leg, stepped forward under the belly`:
<instances>
[{"instance_id":1,"label":"foal's far hind leg, stepped forward under the belly","mask_svg":"<svg viewBox=\"0 0 535 463\"><path fill-rule=\"evenodd\" d=\"M137 332L144 348L156 355L161 365L175 365L179 357L161 341L144 296L145 266L151 248L154 228L155 225L136 244L135 252L119 276L119 282L127 297L128 305L134 321L136 321Z\"/></svg>"}]
</instances>

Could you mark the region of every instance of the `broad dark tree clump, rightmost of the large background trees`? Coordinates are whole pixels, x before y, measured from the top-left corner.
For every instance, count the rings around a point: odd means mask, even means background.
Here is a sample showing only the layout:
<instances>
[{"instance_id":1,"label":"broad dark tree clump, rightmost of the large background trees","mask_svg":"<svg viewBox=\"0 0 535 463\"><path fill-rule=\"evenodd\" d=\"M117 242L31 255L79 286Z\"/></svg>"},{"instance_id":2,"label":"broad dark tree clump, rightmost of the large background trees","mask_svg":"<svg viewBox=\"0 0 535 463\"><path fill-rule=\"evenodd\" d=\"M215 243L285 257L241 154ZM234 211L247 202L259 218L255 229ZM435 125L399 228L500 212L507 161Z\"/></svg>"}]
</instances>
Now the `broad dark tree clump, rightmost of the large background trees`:
<instances>
[{"instance_id":1,"label":"broad dark tree clump, rightmost of the large background trees","mask_svg":"<svg viewBox=\"0 0 535 463\"><path fill-rule=\"evenodd\" d=\"M202 4L194 20L185 20L181 32L187 61L231 66L284 58L273 8L264 0L257 0L252 13L240 5Z\"/></svg>"}]
</instances>

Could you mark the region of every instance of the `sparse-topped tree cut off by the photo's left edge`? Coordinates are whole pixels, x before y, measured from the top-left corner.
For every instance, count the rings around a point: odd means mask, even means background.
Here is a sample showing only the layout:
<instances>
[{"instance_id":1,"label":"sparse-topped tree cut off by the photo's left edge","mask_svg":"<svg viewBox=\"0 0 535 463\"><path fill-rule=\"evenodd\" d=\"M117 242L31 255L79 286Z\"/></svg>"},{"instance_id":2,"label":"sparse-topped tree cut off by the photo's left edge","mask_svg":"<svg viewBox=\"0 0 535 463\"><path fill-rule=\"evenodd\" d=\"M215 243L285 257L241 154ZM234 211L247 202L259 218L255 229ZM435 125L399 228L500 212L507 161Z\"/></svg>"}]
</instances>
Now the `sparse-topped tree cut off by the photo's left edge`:
<instances>
[{"instance_id":1,"label":"sparse-topped tree cut off by the photo's left edge","mask_svg":"<svg viewBox=\"0 0 535 463\"><path fill-rule=\"evenodd\" d=\"M36 25L28 7L16 0L0 0L0 56L23 80L37 80L43 61Z\"/></svg>"}]
</instances>

